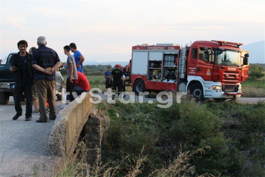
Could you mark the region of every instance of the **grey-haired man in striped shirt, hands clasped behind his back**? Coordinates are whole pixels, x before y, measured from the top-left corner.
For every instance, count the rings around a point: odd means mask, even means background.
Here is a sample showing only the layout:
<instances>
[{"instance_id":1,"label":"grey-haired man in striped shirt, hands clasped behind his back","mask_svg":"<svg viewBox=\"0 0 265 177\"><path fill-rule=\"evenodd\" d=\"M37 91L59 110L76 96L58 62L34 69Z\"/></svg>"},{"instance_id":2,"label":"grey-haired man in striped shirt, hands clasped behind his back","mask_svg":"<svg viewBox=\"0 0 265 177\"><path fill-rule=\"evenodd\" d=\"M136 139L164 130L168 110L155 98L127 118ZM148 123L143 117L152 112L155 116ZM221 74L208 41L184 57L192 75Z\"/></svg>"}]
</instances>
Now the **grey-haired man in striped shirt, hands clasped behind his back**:
<instances>
[{"instance_id":1,"label":"grey-haired man in striped shirt, hands clasped behind his back","mask_svg":"<svg viewBox=\"0 0 265 177\"><path fill-rule=\"evenodd\" d=\"M34 81L39 97L40 117L36 122L47 122L46 116L46 98L50 108L49 119L55 120L55 71L62 62L58 54L51 48L46 47L46 38L40 36L37 39L38 49L32 53L32 67L34 68Z\"/></svg>"}]
</instances>

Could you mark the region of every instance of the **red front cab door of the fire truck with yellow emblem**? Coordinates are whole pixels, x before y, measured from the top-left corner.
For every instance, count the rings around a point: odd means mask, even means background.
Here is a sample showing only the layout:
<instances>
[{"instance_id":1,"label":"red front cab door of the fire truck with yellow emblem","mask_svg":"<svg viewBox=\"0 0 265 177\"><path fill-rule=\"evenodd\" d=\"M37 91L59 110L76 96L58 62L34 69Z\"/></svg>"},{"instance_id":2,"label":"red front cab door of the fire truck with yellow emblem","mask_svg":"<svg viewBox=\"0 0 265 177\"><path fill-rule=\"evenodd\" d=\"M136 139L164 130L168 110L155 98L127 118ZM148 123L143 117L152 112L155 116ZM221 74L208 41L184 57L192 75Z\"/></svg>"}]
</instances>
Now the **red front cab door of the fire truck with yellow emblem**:
<instances>
[{"instance_id":1,"label":"red front cab door of the fire truck with yellow emblem","mask_svg":"<svg viewBox=\"0 0 265 177\"><path fill-rule=\"evenodd\" d=\"M213 53L211 47L198 47L197 76L201 76L205 81L213 78Z\"/></svg>"}]
</instances>

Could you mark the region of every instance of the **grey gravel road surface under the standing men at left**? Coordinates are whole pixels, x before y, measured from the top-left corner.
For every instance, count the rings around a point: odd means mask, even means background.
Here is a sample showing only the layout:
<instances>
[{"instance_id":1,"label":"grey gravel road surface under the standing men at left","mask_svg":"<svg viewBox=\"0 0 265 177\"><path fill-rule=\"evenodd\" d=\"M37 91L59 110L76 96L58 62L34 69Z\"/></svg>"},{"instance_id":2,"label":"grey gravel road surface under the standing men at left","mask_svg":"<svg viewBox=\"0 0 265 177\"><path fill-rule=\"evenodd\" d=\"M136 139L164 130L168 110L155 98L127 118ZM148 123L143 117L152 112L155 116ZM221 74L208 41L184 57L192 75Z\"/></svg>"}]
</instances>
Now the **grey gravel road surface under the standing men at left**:
<instances>
[{"instance_id":1,"label":"grey gravel road surface under the standing men at left","mask_svg":"<svg viewBox=\"0 0 265 177\"><path fill-rule=\"evenodd\" d=\"M56 101L56 114L61 105L61 101ZM48 155L48 139L54 121L37 123L39 115L25 121L26 102L22 102L22 109L22 116L14 121L13 97L8 105L0 107L0 176L32 176L34 166L38 176L51 176L49 173L57 162L57 157Z\"/></svg>"}]
</instances>

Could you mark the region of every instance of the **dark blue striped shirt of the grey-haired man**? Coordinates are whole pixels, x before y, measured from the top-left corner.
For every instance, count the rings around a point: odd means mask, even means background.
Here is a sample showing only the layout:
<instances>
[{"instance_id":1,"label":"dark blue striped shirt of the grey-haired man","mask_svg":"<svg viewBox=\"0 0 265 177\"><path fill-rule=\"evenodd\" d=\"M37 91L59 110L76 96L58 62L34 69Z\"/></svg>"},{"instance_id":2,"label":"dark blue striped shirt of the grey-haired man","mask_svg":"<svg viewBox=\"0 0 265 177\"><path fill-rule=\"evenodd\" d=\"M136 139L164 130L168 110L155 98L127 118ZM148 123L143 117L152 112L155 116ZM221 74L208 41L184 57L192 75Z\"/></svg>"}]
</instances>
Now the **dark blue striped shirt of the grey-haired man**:
<instances>
[{"instance_id":1,"label":"dark blue striped shirt of the grey-haired man","mask_svg":"<svg viewBox=\"0 0 265 177\"><path fill-rule=\"evenodd\" d=\"M46 69L49 67L53 67L57 62L59 62L58 54L51 48L46 47L45 45L41 45L39 48L33 51L31 65L39 65L40 67ZM48 75L46 73L40 72L36 69L33 70L34 81L40 79L46 79L49 81L55 81L55 72L53 74Z\"/></svg>"}]
</instances>

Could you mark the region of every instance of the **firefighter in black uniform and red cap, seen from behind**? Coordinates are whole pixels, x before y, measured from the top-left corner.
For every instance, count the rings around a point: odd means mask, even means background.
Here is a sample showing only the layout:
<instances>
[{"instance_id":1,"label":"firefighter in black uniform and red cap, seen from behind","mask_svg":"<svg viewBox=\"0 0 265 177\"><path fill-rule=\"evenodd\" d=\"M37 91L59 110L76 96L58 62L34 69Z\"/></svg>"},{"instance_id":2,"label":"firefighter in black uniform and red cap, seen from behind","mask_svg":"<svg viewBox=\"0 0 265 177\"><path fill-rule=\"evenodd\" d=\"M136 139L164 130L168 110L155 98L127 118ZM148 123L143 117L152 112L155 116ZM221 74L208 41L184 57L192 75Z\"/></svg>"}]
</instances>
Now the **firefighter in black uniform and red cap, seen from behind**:
<instances>
[{"instance_id":1,"label":"firefighter in black uniform and red cap, seen from behind","mask_svg":"<svg viewBox=\"0 0 265 177\"><path fill-rule=\"evenodd\" d=\"M120 65L115 65L116 69L113 69L111 72L110 81L113 78L112 81L112 92L116 92L116 89L118 88L118 94L121 93L121 87L124 85L124 78L122 77L122 71L120 70ZM122 82L120 82L120 78L122 78ZM112 95L112 99L115 98L115 95Z\"/></svg>"}]
</instances>

